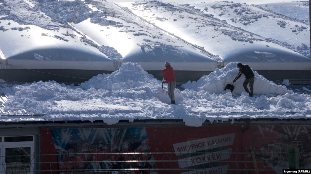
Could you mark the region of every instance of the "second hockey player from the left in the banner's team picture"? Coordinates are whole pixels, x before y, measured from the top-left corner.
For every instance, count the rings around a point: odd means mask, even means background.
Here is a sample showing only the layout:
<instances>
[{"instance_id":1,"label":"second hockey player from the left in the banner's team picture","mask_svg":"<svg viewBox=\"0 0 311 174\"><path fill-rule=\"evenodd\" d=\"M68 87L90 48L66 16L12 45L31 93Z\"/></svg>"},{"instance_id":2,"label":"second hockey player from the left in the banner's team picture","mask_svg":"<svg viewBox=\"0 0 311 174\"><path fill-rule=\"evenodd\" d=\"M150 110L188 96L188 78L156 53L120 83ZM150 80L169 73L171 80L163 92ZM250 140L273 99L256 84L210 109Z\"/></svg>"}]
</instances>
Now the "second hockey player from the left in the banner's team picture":
<instances>
[{"instance_id":1,"label":"second hockey player from the left in the banner's team picture","mask_svg":"<svg viewBox=\"0 0 311 174\"><path fill-rule=\"evenodd\" d=\"M89 144L85 143L82 145L82 150L80 151L80 167L82 169L90 169L89 165L96 159L95 153L95 150L90 149Z\"/></svg>"}]
</instances>

